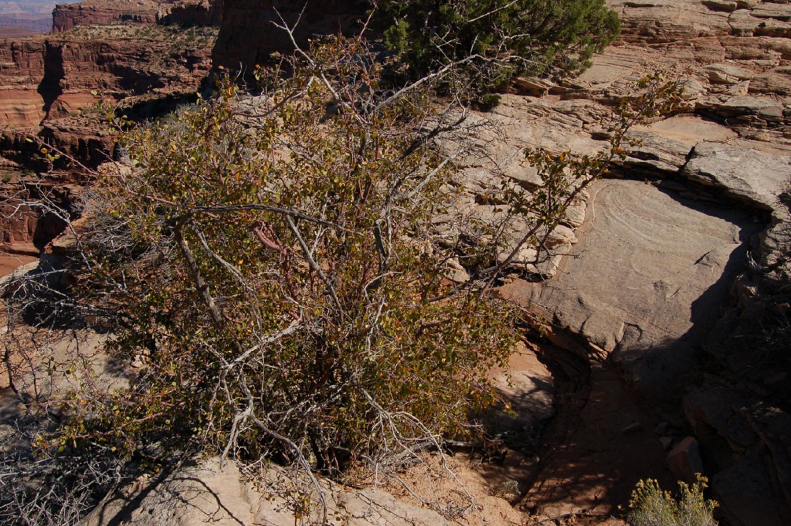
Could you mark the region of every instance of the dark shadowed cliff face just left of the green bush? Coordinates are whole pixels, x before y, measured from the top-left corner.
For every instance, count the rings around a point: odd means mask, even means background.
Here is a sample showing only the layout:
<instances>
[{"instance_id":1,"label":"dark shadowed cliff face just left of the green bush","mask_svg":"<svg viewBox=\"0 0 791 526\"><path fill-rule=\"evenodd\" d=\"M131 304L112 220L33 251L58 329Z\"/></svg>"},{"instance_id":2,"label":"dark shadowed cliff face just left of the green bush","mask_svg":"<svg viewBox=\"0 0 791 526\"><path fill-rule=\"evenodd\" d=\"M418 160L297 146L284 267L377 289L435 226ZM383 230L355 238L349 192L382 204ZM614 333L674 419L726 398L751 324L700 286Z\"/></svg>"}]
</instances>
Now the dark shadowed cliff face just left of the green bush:
<instances>
[{"instance_id":1,"label":"dark shadowed cliff face just left of the green bush","mask_svg":"<svg viewBox=\"0 0 791 526\"><path fill-rule=\"evenodd\" d=\"M275 51L293 51L288 34L274 25L282 25L278 12L290 27L299 20L294 37L298 44L305 45L310 37L352 28L365 14L366 6L367 2L356 0L308 0L307 4L300 0L225 0L212 62L214 66L251 70L267 62Z\"/></svg>"}]
</instances>

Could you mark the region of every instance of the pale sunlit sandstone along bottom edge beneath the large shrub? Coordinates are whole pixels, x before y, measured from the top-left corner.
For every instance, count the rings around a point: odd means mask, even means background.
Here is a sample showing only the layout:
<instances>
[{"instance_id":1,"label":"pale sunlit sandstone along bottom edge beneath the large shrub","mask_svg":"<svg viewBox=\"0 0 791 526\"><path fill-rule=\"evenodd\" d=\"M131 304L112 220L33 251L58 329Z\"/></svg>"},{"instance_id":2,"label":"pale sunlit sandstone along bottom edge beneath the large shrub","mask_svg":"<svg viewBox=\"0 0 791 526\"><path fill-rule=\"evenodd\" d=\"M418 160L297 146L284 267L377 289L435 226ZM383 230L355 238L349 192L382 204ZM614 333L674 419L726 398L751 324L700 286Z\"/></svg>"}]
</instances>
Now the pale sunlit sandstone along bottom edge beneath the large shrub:
<instances>
[{"instance_id":1,"label":"pale sunlit sandstone along bottom edge beneath the large shrub","mask_svg":"<svg viewBox=\"0 0 791 526\"><path fill-rule=\"evenodd\" d=\"M256 489L238 467L218 459L181 468L158 479L134 482L104 502L84 520L85 526L293 526L299 518L276 488L290 479L274 468L267 472L272 488ZM329 524L349 526L435 526L449 524L430 509L398 501L382 490L351 490L322 481ZM314 495L314 499L316 496ZM317 502L314 502L317 505ZM314 512L315 514L316 512ZM320 517L320 514L319 514ZM307 517L303 517L307 519Z\"/></svg>"}]
</instances>

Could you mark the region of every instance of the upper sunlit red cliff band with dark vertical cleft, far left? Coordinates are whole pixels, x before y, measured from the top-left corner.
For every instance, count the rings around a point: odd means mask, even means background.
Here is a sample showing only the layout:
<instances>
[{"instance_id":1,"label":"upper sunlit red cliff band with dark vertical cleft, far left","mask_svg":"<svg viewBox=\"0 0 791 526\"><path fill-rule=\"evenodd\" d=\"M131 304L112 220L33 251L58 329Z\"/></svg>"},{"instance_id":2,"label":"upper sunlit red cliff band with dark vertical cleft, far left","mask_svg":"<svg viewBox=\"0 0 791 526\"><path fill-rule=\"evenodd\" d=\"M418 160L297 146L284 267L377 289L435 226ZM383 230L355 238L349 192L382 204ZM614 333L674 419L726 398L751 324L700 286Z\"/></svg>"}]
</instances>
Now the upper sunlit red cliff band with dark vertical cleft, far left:
<instances>
[{"instance_id":1,"label":"upper sunlit red cliff band with dark vertical cleft, far left","mask_svg":"<svg viewBox=\"0 0 791 526\"><path fill-rule=\"evenodd\" d=\"M0 40L0 120L32 127L78 112L99 96L191 91L210 68L213 28L84 27Z\"/></svg>"}]
</instances>

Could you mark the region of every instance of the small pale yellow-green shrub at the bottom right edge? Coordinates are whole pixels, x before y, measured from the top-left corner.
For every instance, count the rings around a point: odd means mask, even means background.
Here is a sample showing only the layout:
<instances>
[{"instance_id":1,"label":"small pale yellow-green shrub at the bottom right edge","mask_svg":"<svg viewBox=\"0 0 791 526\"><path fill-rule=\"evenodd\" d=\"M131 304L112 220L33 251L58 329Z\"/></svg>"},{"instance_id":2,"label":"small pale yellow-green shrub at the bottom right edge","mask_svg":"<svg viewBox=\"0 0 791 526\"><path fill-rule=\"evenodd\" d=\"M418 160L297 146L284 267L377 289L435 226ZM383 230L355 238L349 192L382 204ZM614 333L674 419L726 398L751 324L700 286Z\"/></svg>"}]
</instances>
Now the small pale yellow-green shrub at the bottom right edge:
<instances>
[{"instance_id":1,"label":"small pale yellow-green shrub at the bottom right edge","mask_svg":"<svg viewBox=\"0 0 791 526\"><path fill-rule=\"evenodd\" d=\"M628 520L633 526L716 526L712 513L716 501L706 500L706 477L696 474L691 486L679 482L679 497L663 491L654 479L641 480L629 501Z\"/></svg>"}]
</instances>

